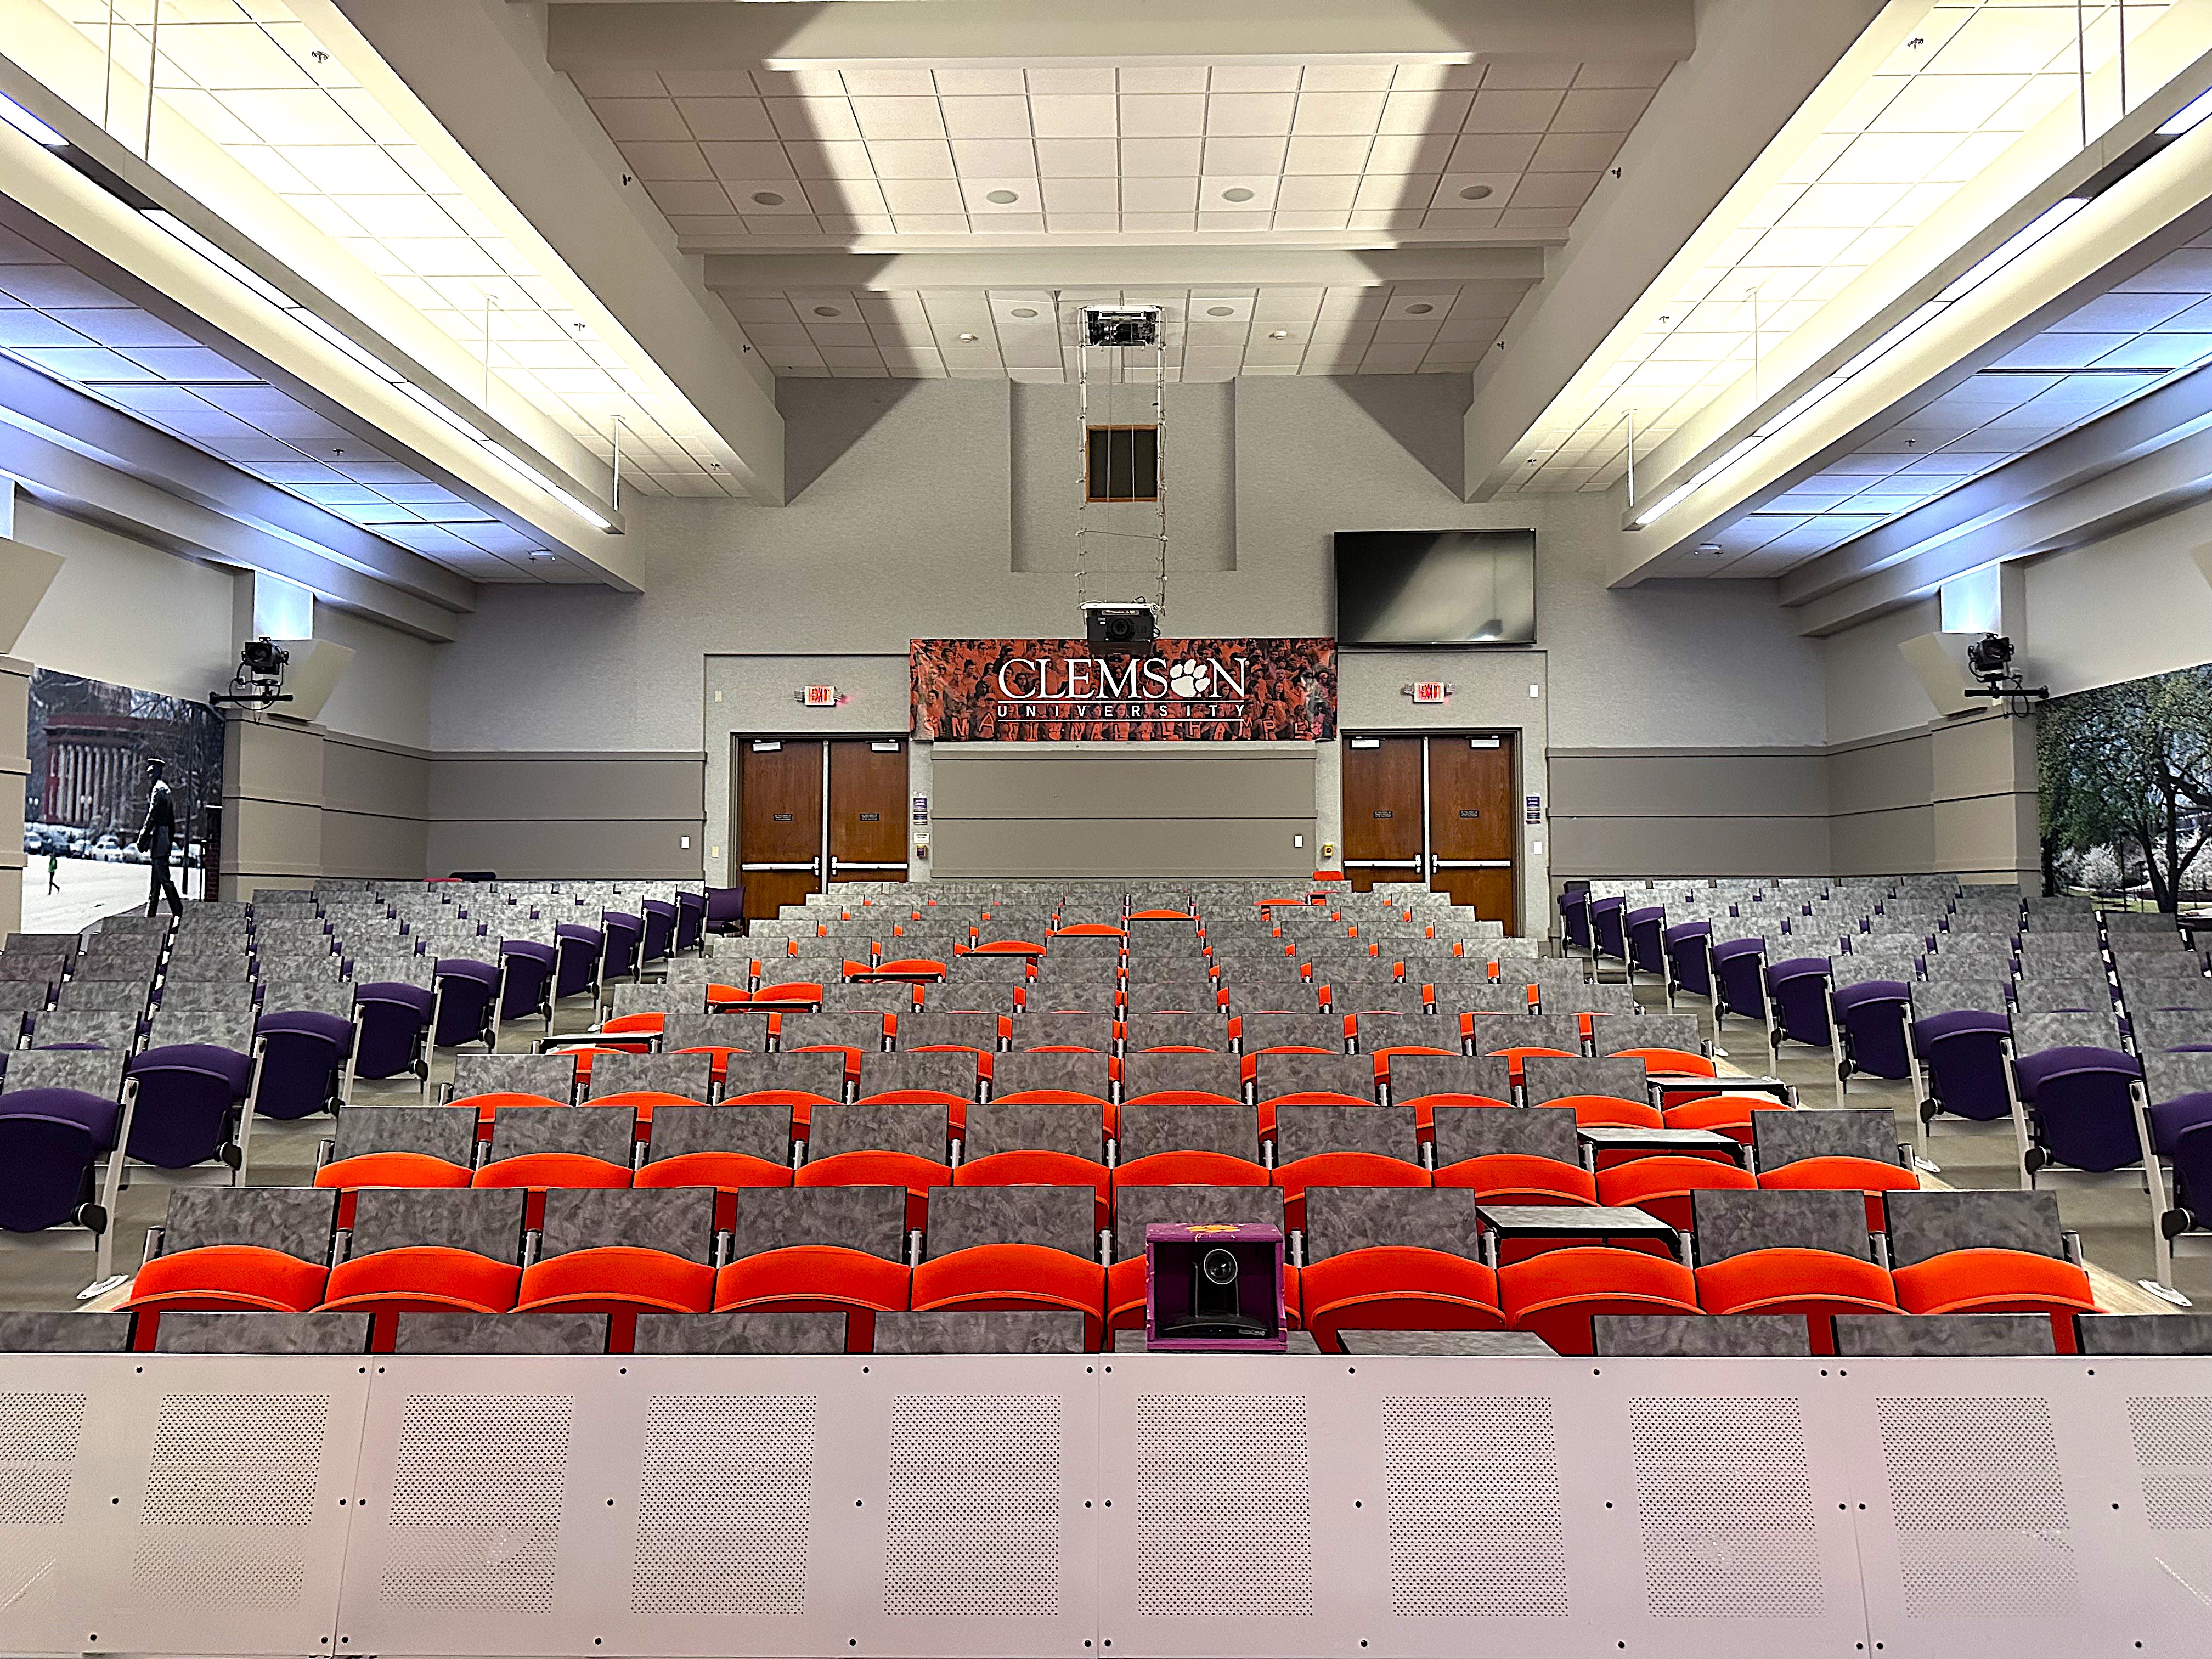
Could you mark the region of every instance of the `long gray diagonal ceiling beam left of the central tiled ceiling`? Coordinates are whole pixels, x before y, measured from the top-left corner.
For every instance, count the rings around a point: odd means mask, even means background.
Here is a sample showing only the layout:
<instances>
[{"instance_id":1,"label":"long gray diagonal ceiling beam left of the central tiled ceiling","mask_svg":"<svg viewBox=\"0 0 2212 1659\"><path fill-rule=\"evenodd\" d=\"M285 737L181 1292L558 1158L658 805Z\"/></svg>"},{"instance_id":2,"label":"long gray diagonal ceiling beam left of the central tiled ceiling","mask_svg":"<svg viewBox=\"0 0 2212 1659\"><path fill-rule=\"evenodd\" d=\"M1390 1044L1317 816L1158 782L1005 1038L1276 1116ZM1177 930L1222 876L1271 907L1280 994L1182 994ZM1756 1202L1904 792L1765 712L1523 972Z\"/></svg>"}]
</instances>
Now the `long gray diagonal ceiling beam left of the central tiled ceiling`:
<instances>
[{"instance_id":1,"label":"long gray diagonal ceiling beam left of the central tiled ceiling","mask_svg":"<svg viewBox=\"0 0 2212 1659\"><path fill-rule=\"evenodd\" d=\"M774 376L699 281L582 95L546 64L544 13L507 0L316 0L361 33L706 418L745 493L783 504ZM303 4L314 22L314 7Z\"/></svg>"}]
</instances>

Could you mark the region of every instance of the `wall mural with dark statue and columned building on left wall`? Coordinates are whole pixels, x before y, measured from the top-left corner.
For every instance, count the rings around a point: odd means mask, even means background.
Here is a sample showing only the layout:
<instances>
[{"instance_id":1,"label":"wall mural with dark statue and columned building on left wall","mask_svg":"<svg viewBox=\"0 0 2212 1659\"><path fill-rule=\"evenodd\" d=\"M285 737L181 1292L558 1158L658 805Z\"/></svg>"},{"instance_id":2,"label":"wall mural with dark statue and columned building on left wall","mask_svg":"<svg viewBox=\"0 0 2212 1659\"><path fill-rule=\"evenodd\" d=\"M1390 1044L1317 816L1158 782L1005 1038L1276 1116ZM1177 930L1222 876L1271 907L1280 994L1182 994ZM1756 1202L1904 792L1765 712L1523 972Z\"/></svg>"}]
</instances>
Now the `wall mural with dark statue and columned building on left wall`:
<instances>
[{"instance_id":1,"label":"wall mural with dark statue and columned building on left wall","mask_svg":"<svg viewBox=\"0 0 2212 1659\"><path fill-rule=\"evenodd\" d=\"M210 830L223 799L223 717L208 703L111 686L82 675L31 675L31 776L22 801L24 931L73 931L146 909L150 856L146 761L161 761L177 812L170 876L204 896Z\"/></svg>"}]
</instances>

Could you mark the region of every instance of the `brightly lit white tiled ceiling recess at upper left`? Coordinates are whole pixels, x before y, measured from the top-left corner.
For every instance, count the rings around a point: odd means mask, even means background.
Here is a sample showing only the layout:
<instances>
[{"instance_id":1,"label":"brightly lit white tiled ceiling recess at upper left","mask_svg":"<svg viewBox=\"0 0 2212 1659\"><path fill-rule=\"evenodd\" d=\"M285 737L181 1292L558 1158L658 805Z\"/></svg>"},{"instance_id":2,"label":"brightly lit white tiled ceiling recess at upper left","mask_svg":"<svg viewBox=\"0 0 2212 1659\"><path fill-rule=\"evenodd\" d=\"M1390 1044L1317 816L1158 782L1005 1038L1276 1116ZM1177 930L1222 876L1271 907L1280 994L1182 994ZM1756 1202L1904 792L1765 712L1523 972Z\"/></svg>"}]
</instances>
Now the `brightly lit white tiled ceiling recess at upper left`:
<instances>
[{"instance_id":1,"label":"brightly lit white tiled ceiling recess at upper left","mask_svg":"<svg viewBox=\"0 0 2212 1659\"><path fill-rule=\"evenodd\" d=\"M734 493L708 422L334 9L119 0L113 27L106 0L13 11L11 55L133 153L150 133L155 168L243 239L232 252L334 296L568 495L611 515L617 420L630 489Z\"/></svg>"}]
</instances>

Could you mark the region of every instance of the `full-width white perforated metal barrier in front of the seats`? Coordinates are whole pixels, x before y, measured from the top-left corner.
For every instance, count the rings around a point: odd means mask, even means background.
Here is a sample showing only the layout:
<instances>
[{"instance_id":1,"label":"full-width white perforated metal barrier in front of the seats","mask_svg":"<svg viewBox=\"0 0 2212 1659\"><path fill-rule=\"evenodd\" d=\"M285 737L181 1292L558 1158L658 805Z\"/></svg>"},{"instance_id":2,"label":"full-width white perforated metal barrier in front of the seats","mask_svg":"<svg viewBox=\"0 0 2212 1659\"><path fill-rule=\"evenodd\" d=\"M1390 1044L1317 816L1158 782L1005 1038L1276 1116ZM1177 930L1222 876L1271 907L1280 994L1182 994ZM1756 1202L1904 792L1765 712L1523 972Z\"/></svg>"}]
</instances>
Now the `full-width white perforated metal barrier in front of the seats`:
<instances>
[{"instance_id":1,"label":"full-width white perforated metal barrier in front of the seats","mask_svg":"<svg viewBox=\"0 0 2212 1659\"><path fill-rule=\"evenodd\" d=\"M0 1363L7 1655L2201 1655L2212 1367Z\"/></svg>"}]
</instances>

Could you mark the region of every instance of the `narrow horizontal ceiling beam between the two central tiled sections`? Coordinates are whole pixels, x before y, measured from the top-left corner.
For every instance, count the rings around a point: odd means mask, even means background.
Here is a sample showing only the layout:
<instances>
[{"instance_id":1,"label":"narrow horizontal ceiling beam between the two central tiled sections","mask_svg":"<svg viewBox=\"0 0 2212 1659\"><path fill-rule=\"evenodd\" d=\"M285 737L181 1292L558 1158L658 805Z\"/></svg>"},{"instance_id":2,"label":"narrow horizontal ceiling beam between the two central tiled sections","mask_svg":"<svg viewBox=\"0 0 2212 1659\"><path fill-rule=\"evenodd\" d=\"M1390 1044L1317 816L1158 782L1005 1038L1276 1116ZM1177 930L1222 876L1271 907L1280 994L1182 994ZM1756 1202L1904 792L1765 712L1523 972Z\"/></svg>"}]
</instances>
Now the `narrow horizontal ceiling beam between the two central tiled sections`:
<instances>
[{"instance_id":1,"label":"narrow horizontal ceiling beam between the two central tiled sections","mask_svg":"<svg viewBox=\"0 0 2212 1659\"><path fill-rule=\"evenodd\" d=\"M869 0L896 4L898 0ZM931 252L708 254L726 294L854 288L1380 288L1407 281L1513 281L1544 274L1542 248L947 248Z\"/></svg>"}]
</instances>

